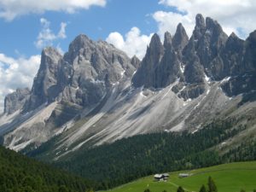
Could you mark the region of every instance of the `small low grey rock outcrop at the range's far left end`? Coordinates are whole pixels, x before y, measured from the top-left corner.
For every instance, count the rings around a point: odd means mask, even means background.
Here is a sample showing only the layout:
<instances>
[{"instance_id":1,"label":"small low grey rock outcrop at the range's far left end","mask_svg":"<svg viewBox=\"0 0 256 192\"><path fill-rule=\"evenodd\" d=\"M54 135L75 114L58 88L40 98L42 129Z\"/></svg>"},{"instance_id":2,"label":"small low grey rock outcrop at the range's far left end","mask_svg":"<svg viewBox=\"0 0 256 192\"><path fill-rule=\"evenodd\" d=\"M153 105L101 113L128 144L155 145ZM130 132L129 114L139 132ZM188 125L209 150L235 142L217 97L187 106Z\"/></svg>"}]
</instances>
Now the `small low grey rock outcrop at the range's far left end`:
<instances>
[{"instance_id":1,"label":"small low grey rock outcrop at the range's far left end","mask_svg":"<svg viewBox=\"0 0 256 192\"><path fill-rule=\"evenodd\" d=\"M5 96L4 99L4 113L15 113L17 110L21 110L24 104L29 99L31 92L28 88L17 89L14 93Z\"/></svg>"}]
</instances>

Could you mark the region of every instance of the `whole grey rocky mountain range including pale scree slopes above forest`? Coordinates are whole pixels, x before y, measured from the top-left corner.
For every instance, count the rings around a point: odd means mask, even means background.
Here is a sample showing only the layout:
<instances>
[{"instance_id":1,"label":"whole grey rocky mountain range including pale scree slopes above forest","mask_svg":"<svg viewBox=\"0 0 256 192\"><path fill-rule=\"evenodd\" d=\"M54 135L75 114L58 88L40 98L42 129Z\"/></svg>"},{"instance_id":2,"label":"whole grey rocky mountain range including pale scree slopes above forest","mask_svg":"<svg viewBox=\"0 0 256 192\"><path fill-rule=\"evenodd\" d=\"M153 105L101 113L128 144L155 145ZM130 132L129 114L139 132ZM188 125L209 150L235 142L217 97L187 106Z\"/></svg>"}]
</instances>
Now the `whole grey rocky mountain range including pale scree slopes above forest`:
<instances>
[{"instance_id":1,"label":"whole grey rocky mountain range including pale scree slopes above forest","mask_svg":"<svg viewBox=\"0 0 256 192\"><path fill-rule=\"evenodd\" d=\"M54 143L49 153L59 158L137 134L193 133L214 119L245 124L256 105L255 70L256 31L228 36L202 15L190 38L182 24L163 43L154 34L142 61L79 35L65 55L43 49L32 90L6 96L0 135L17 151Z\"/></svg>"}]
</instances>

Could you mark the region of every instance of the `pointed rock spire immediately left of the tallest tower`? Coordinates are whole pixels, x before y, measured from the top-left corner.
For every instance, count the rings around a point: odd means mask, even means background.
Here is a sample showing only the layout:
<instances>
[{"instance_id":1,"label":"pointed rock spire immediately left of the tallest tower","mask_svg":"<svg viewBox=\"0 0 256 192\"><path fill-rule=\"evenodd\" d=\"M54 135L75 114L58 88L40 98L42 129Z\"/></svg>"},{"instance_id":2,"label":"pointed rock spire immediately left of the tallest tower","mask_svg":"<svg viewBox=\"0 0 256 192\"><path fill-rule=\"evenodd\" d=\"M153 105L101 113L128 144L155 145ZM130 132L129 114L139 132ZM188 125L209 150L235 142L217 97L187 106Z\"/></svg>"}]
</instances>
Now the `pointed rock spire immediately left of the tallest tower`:
<instances>
[{"instance_id":1,"label":"pointed rock spire immediately left of the tallest tower","mask_svg":"<svg viewBox=\"0 0 256 192\"><path fill-rule=\"evenodd\" d=\"M189 42L189 37L183 25L179 23L177 25L176 32L172 38L172 45L174 49L182 50Z\"/></svg>"}]
</instances>

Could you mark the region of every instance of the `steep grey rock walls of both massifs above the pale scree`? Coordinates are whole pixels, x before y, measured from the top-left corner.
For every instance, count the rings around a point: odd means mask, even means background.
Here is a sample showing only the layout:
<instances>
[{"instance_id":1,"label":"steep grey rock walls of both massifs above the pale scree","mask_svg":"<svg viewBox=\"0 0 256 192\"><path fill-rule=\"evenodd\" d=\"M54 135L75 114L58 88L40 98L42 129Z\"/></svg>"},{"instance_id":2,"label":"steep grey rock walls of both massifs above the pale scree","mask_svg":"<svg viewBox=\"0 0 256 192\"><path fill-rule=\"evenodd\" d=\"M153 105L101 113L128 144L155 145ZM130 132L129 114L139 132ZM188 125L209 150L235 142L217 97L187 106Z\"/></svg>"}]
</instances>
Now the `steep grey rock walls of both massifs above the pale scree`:
<instances>
[{"instance_id":1,"label":"steep grey rock walls of both massifs above the pale scree","mask_svg":"<svg viewBox=\"0 0 256 192\"><path fill-rule=\"evenodd\" d=\"M94 42L79 35L64 56L53 48L43 50L29 100L14 104L6 98L5 112L12 113L18 106L23 107L24 102L26 111L55 100L81 107L94 105L108 94L113 84L129 79L135 70L137 73L131 79L135 87L165 88L178 80L172 90L181 91L178 96L188 99L206 90L207 77L211 80L232 77L222 86L229 96L237 95L253 89L253 85L245 86L241 81L254 82L255 39L256 31L246 41L235 33L228 37L216 20L209 17L205 20L199 14L191 38L181 23L173 37L166 32L163 44L154 34L140 61L136 56L130 59L104 41Z\"/></svg>"}]
</instances>

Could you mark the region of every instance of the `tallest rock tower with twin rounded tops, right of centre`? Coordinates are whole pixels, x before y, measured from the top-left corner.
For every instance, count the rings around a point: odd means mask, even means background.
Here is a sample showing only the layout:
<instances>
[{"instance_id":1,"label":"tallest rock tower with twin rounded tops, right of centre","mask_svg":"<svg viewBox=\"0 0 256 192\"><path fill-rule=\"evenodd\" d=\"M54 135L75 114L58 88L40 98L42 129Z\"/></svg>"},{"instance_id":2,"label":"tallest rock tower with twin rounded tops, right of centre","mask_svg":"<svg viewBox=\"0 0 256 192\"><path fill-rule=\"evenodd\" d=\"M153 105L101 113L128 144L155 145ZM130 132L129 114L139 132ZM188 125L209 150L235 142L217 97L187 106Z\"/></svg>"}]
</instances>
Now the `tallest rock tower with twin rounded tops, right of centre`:
<instances>
[{"instance_id":1,"label":"tallest rock tower with twin rounded tops, right of centre","mask_svg":"<svg viewBox=\"0 0 256 192\"><path fill-rule=\"evenodd\" d=\"M224 49L228 36L216 20L207 17L205 21L202 15L196 15L195 19L195 30L183 51L183 59L188 63L191 62L189 57L197 55L204 72L211 79L223 79L224 62L220 52Z\"/></svg>"}]
</instances>

